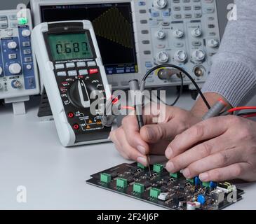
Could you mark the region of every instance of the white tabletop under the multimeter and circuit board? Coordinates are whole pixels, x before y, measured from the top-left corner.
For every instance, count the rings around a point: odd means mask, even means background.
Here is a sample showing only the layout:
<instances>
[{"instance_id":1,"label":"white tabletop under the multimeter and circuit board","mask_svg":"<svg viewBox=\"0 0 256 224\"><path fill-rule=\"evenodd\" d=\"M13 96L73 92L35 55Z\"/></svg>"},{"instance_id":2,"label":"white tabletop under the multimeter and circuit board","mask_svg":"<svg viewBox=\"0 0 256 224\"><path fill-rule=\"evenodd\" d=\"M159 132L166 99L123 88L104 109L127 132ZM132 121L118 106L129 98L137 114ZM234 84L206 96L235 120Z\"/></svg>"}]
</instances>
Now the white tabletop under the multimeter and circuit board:
<instances>
[{"instance_id":1,"label":"white tabletop under the multimeter and circuit board","mask_svg":"<svg viewBox=\"0 0 256 224\"><path fill-rule=\"evenodd\" d=\"M128 162L112 143L63 148L53 122L37 118L39 97L27 103L25 116L0 106L0 209L161 209L85 183L90 174ZM177 106L189 109L182 97ZM27 189L27 203L16 200ZM244 199L227 209L256 209L256 184L238 185Z\"/></svg>"}]
</instances>

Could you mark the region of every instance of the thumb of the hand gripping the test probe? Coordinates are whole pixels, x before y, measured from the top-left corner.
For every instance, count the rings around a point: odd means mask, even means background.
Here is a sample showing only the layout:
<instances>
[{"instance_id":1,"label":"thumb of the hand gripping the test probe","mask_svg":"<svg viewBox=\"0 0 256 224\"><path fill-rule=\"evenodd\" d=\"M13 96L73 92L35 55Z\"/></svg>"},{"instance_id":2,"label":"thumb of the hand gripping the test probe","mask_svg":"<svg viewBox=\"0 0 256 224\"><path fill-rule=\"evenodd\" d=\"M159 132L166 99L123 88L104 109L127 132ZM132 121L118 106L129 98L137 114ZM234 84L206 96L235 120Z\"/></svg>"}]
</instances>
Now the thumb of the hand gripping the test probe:
<instances>
[{"instance_id":1,"label":"thumb of the hand gripping the test probe","mask_svg":"<svg viewBox=\"0 0 256 224\"><path fill-rule=\"evenodd\" d=\"M184 127L179 125L176 120L170 120L168 123L159 123L157 125L145 125L140 130L140 135L148 143L156 143L160 140L172 140L175 135L184 131Z\"/></svg>"}]
</instances>

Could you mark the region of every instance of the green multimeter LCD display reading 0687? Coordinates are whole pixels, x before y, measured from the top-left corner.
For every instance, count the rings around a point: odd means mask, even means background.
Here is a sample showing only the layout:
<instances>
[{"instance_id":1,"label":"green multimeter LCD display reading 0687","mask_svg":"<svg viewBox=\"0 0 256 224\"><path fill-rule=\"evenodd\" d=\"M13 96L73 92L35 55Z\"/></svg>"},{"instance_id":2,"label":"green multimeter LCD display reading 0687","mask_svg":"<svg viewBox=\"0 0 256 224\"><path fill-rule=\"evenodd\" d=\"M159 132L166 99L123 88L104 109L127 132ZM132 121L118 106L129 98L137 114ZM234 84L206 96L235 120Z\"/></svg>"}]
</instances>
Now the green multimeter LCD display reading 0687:
<instances>
[{"instance_id":1,"label":"green multimeter LCD display reading 0687","mask_svg":"<svg viewBox=\"0 0 256 224\"><path fill-rule=\"evenodd\" d=\"M88 59L93 57L93 52L86 33L49 34L48 40L55 61Z\"/></svg>"}]
</instances>

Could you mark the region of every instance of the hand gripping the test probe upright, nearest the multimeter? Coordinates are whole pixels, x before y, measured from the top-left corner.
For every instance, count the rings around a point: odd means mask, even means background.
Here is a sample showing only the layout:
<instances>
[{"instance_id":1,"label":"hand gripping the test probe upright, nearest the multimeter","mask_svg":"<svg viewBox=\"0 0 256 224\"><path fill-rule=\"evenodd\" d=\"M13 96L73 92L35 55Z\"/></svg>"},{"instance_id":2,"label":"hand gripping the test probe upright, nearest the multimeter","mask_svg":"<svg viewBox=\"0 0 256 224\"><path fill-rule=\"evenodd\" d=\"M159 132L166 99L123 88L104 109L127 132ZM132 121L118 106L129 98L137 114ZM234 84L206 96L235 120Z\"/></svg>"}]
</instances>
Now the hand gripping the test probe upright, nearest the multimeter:
<instances>
[{"instance_id":1,"label":"hand gripping the test probe upright, nearest the multimeter","mask_svg":"<svg viewBox=\"0 0 256 224\"><path fill-rule=\"evenodd\" d=\"M150 111L150 112L149 112ZM165 110L145 106L144 127L139 131L137 118L129 115L123 118L122 125L110 133L110 139L123 158L147 165L146 155L165 155L166 147L173 138L192 125L201 121L189 111L173 106Z\"/></svg>"}]
</instances>

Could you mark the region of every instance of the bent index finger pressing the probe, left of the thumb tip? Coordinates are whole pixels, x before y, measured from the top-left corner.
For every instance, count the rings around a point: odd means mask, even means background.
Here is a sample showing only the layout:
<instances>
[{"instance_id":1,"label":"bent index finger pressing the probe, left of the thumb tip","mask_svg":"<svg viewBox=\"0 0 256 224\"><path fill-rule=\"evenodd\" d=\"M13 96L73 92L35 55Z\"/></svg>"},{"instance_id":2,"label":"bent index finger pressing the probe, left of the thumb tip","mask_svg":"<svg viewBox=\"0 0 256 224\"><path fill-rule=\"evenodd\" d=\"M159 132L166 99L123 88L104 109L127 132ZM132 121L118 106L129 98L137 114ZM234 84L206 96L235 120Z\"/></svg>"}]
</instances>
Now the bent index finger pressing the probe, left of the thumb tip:
<instances>
[{"instance_id":1,"label":"bent index finger pressing the probe, left of the thumb tip","mask_svg":"<svg viewBox=\"0 0 256 224\"><path fill-rule=\"evenodd\" d=\"M136 116L126 116L123 118L122 127L128 144L133 148L136 148L137 151L140 151L143 155L147 155L149 153L149 145L142 140L142 137L140 136L140 129ZM119 141L122 140L123 139L119 139Z\"/></svg>"}]
</instances>

